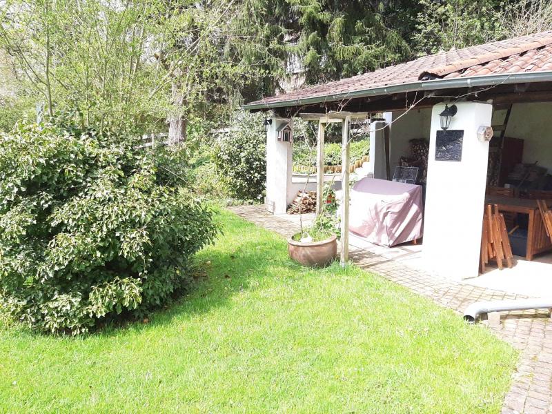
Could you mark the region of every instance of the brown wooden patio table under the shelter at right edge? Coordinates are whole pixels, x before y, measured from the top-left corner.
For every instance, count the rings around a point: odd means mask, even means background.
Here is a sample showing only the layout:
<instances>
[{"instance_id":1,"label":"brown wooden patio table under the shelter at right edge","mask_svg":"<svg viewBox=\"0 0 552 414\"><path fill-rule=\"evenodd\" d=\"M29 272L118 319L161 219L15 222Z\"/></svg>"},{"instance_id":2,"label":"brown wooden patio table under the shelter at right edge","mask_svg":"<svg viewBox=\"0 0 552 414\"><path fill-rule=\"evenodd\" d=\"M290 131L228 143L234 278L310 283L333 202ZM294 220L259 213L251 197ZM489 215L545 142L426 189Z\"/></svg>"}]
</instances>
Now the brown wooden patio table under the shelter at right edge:
<instances>
[{"instance_id":1,"label":"brown wooden patio table under the shelter at right edge","mask_svg":"<svg viewBox=\"0 0 552 414\"><path fill-rule=\"evenodd\" d=\"M538 253L552 250L552 242L546 234L542 217L540 217L537 200L487 195L486 204L496 204L499 211L529 215L527 228L527 253L525 258L533 260Z\"/></svg>"}]
</instances>

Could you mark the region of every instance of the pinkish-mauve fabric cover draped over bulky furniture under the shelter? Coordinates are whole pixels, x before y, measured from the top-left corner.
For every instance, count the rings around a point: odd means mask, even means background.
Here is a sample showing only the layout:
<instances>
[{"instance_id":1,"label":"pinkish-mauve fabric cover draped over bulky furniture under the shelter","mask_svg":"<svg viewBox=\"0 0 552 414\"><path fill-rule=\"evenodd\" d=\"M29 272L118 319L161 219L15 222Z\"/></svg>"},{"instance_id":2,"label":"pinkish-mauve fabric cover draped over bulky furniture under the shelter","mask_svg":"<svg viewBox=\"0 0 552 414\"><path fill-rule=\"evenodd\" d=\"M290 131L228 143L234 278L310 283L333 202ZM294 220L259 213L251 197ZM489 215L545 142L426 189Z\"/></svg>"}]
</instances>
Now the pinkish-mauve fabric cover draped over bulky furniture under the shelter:
<instances>
[{"instance_id":1,"label":"pinkish-mauve fabric cover draped over bulky furniture under the shelter","mask_svg":"<svg viewBox=\"0 0 552 414\"><path fill-rule=\"evenodd\" d=\"M363 178L351 190L349 230L395 246L422 237L422 186Z\"/></svg>"}]
</instances>

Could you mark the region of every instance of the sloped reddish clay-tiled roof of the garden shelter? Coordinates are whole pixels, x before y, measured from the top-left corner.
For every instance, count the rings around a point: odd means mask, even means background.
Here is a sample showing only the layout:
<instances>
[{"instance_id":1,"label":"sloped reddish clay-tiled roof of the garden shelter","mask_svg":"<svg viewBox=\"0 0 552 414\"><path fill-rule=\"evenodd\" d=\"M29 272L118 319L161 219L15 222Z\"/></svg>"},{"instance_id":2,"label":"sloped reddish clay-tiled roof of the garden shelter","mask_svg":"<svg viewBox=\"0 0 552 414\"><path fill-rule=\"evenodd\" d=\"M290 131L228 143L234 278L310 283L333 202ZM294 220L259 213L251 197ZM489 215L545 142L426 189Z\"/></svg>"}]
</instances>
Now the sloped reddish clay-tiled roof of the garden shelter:
<instances>
[{"instance_id":1,"label":"sloped reddish clay-tiled roof of the garden shelter","mask_svg":"<svg viewBox=\"0 0 552 414\"><path fill-rule=\"evenodd\" d=\"M552 71L552 30L420 57L364 75L266 97L245 107L270 108L306 98L329 101L332 99L324 98L432 79L546 71Z\"/></svg>"}]
</instances>

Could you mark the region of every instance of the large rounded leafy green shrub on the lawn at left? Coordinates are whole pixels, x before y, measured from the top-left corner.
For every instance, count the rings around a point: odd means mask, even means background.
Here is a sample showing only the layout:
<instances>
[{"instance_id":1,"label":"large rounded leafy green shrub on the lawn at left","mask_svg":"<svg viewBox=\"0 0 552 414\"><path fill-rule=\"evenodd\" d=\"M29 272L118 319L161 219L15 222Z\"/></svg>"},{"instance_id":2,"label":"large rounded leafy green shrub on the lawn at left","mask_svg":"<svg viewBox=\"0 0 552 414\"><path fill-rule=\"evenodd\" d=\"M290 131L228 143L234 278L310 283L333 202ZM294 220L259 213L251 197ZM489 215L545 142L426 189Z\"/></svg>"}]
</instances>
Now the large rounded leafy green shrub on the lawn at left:
<instances>
[{"instance_id":1,"label":"large rounded leafy green shrub on the lawn at left","mask_svg":"<svg viewBox=\"0 0 552 414\"><path fill-rule=\"evenodd\" d=\"M185 288L215 225L155 166L128 137L53 125L0 135L0 306L43 331L81 333Z\"/></svg>"}]
</instances>

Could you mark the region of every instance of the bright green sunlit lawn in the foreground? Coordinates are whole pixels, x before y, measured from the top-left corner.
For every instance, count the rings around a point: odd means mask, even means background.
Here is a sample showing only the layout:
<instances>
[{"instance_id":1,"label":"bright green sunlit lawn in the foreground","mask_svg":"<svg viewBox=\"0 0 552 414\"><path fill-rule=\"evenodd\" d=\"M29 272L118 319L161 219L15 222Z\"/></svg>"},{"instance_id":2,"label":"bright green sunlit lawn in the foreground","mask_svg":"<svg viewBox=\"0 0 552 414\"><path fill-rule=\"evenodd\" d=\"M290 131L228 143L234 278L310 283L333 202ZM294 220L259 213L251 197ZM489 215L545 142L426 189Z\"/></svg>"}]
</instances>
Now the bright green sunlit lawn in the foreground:
<instances>
[{"instance_id":1,"label":"bright green sunlit lawn in the foreground","mask_svg":"<svg viewBox=\"0 0 552 414\"><path fill-rule=\"evenodd\" d=\"M497 413L517 355L351 267L309 270L223 212L208 277L149 324L0 328L0 412Z\"/></svg>"}]
</instances>

